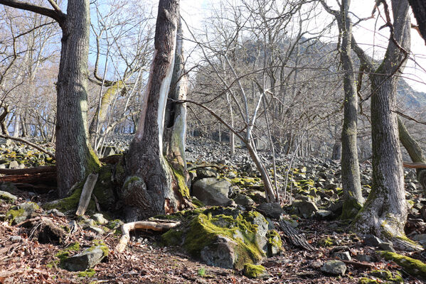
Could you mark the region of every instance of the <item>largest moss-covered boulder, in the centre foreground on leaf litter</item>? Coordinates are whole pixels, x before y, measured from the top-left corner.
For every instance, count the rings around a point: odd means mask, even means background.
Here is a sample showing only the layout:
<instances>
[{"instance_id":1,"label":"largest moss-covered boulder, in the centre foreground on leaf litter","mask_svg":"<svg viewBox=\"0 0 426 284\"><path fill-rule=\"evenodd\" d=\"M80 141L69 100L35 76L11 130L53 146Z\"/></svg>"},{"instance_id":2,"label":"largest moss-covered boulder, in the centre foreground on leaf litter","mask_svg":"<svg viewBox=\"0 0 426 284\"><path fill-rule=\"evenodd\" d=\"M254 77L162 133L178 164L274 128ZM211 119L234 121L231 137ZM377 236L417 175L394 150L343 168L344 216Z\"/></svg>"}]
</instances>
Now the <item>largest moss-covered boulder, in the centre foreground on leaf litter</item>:
<instances>
[{"instance_id":1,"label":"largest moss-covered boulder, in the centre foreground on leaf litter","mask_svg":"<svg viewBox=\"0 0 426 284\"><path fill-rule=\"evenodd\" d=\"M280 239L268 233L268 223L258 212L212 207L184 215L185 224L163 234L162 239L167 245L183 247L208 265L242 269L245 263L260 262L268 248L279 251Z\"/></svg>"}]
</instances>

